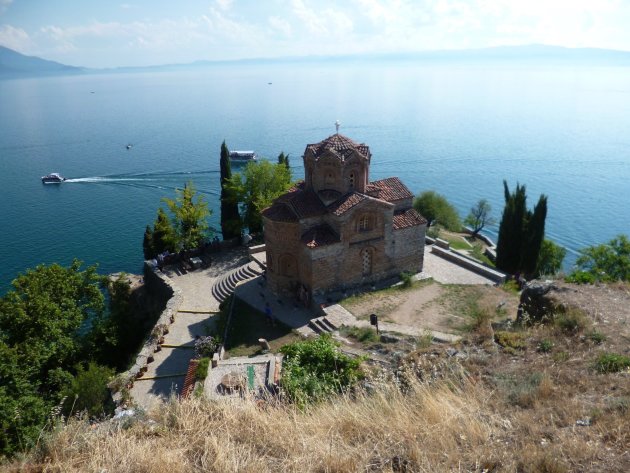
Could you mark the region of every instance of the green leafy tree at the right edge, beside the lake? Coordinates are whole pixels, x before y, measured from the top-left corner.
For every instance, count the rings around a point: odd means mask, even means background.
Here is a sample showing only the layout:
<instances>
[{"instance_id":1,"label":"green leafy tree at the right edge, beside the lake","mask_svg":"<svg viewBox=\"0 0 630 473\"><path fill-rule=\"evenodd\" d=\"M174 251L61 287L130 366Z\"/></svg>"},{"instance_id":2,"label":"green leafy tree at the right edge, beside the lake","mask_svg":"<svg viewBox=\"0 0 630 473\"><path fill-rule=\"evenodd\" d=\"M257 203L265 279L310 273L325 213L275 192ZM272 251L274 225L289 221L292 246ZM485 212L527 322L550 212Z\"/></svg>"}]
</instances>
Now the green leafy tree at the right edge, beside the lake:
<instances>
[{"instance_id":1,"label":"green leafy tree at the right edge, beside the lake","mask_svg":"<svg viewBox=\"0 0 630 473\"><path fill-rule=\"evenodd\" d=\"M630 281L630 240L618 235L606 244L580 250L579 271L599 281Z\"/></svg>"}]
</instances>

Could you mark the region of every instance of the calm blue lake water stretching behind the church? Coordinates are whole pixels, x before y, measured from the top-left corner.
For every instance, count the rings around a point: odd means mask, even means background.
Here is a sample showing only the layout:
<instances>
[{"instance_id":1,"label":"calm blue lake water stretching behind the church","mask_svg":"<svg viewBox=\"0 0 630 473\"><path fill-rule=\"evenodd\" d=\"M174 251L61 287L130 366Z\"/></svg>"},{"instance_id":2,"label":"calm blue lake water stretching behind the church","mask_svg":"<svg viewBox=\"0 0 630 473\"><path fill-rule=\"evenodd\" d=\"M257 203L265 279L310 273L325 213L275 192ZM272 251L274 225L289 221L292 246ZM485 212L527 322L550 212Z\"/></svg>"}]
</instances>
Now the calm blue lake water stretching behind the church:
<instances>
[{"instance_id":1,"label":"calm blue lake water stretching behind the church","mask_svg":"<svg viewBox=\"0 0 630 473\"><path fill-rule=\"evenodd\" d=\"M272 82L272 84L268 84ZM193 180L218 226L219 149L290 153L365 142L372 180L400 176L464 216L502 180L549 196L569 250L630 233L630 69L456 65L217 66L0 81L0 294L39 263L138 272L144 227ZM132 143L127 150L125 145ZM42 185L40 176L72 178ZM490 233L496 226L490 228Z\"/></svg>"}]
</instances>

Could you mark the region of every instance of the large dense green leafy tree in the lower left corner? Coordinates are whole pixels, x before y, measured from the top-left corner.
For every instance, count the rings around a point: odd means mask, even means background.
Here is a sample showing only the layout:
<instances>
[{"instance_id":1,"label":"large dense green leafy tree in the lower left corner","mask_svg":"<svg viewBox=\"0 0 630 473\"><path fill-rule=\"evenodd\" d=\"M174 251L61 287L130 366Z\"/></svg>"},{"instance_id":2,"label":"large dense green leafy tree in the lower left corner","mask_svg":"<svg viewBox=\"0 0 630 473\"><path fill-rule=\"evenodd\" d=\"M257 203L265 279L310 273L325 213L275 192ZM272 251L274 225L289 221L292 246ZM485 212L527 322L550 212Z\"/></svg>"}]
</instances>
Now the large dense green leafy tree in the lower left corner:
<instances>
[{"instance_id":1,"label":"large dense green leafy tree in the lower left corner","mask_svg":"<svg viewBox=\"0 0 630 473\"><path fill-rule=\"evenodd\" d=\"M0 299L0 454L34 444L105 315L96 267L38 266Z\"/></svg>"}]
</instances>

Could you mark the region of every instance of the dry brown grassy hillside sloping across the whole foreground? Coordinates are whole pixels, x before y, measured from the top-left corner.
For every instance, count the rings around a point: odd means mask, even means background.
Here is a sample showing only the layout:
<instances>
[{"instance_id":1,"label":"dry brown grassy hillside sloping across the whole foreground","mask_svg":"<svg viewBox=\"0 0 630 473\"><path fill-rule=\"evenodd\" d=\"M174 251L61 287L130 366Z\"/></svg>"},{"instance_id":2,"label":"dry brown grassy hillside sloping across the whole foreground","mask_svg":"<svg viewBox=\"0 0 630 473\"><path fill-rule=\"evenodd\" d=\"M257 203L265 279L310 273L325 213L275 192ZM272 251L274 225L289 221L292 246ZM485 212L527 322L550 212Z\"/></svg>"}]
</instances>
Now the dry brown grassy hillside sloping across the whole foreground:
<instances>
[{"instance_id":1,"label":"dry brown grassy hillside sloping across the whole foreground","mask_svg":"<svg viewBox=\"0 0 630 473\"><path fill-rule=\"evenodd\" d=\"M585 293L571 297L576 329L490 326L491 317L480 317L457 346L413 352L396 376L381 373L368 392L306 411L279 403L172 401L128 424L71 421L23 463L5 468L630 471L630 372L601 374L594 367L600 353L628 354L630 289ZM613 307L617 312L607 314Z\"/></svg>"}]
</instances>

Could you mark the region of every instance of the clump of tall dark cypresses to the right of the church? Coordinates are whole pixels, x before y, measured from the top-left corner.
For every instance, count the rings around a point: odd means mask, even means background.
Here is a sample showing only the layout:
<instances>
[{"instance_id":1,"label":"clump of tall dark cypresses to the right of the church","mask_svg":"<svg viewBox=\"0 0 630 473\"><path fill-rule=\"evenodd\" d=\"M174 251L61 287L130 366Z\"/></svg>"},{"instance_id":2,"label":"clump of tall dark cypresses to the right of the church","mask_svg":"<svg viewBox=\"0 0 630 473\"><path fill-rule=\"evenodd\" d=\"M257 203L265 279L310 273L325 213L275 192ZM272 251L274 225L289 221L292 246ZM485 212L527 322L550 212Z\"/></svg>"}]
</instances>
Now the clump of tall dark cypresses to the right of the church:
<instances>
[{"instance_id":1,"label":"clump of tall dark cypresses to the right of the church","mask_svg":"<svg viewBox=\"0 0 630 473\"><path fill-rule=\"evenodd\" d=\"M536 274L540 248L545 236L547 197L541 195L534 211L527 210L525 186L516 184L511 193L503 181L505 207L499 224L497 268L510 274L523 273L531 278Z\"/></svg>"}]
</instances>

